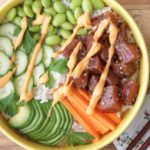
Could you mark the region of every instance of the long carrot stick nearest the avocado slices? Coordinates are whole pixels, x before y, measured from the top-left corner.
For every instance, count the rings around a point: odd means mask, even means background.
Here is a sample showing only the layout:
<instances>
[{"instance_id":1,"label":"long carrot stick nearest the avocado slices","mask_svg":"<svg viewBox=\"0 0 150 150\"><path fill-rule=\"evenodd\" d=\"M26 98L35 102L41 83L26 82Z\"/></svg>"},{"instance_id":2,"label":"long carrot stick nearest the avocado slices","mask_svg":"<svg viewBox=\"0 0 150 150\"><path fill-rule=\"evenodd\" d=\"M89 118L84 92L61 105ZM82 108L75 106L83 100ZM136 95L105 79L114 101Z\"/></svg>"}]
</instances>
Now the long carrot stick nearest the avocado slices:
<instances>
[{"instance_id":1,"label":"long carrot stick nearest the avocado slices","mask_svg":"<svg viewBox=\"0 0 150 150\"><path fill-rule=\"evenodd\" d=\"M67 99L62 100L61 103L71 112L73 117L84 127L84 129L95 137L94 142L99 141L100 135L96 132L93 125L90 122L87 123Z\"/></svg>"}]
</instances>

